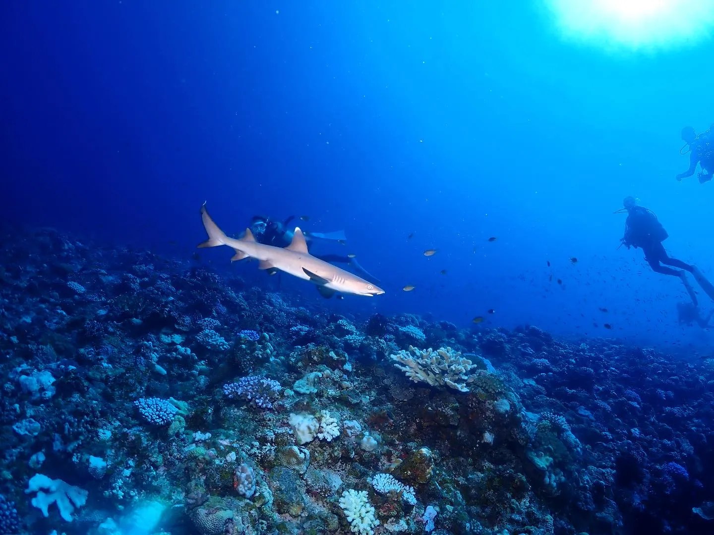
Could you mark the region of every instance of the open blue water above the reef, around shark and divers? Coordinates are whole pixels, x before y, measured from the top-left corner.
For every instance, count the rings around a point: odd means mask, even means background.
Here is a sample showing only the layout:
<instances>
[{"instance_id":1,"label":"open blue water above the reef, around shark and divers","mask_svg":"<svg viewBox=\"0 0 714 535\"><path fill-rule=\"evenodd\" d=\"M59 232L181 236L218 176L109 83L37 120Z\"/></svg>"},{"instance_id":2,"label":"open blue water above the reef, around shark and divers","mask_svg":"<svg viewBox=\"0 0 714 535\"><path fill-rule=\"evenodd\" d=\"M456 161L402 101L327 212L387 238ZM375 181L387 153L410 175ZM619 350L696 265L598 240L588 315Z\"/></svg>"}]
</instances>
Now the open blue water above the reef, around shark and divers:
<instances>
[{"instance_id":1,"label":"open blue water above the reef, around shark and divers","mask_svg":"<svg viewBox=\"0 0 714 535\"><path fill-rule=\"evenodd\" d=\"M189 258L203 200L228 232L309 215L387 290L336 310L705 350L613 211L638 197L714 277L713 184L674 180L680 128L714 121L712 41L563 39L537 4L7 2L1 217ZM201 261L276 284L230 256Z\"/></svg>"}]
</instances>

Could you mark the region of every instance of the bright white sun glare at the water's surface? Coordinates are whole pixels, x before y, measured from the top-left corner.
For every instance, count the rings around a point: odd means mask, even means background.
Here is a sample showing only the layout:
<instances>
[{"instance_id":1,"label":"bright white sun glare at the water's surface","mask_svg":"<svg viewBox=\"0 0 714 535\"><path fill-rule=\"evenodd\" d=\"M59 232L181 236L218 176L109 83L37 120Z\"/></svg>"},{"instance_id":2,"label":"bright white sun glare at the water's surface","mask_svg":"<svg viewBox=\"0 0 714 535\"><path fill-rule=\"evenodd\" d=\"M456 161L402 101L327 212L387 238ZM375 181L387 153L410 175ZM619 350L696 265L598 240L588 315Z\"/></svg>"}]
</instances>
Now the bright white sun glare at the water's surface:
<instances>
[{"instance_id":1,"label":"bright white sun glare at the water's surface","mask_svg":"<svg viewBox=\"0 0 714 535\"><path fill-rule=\"evenodd\" d=\"M712 36L714 0L547 0L563 37L604 49L668 49Z\"/></svg>"}]
</instances>

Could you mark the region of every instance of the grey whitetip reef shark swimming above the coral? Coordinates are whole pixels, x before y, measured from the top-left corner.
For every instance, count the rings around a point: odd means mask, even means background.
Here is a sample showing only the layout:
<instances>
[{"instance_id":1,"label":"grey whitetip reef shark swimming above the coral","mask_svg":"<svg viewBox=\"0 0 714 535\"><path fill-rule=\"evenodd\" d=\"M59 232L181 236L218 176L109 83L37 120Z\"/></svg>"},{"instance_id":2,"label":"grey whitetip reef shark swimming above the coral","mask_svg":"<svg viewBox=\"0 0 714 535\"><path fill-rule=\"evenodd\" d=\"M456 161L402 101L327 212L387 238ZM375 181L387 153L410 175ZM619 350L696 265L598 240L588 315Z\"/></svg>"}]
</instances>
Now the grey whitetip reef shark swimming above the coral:
<instances>
[{"instance_id":1,"label":"grey whitetip reef shark swimming above the coral","mask_svg":"<svg viewBox=\"0 0 714 535\"><path fill-rule=\"evenodd\" d=\"M198 244L199 248L228 245L236 251L231 260L255 258L259 260L258 268L261 270L272 270L272 272L280 270L288 275L309 280L317 285L323 297L332 297L336 292L368 297L384 293L384 290L371 282L308 253L305 236L298 227L295 228L295 235L290 245L280 248L258 243L249 228L246 228L246 235L243 238L229 238L216 223L213 223L206 210L206 203L201 206L201 220L208 233L208 240Z\"/></svg>"}]
</instances>

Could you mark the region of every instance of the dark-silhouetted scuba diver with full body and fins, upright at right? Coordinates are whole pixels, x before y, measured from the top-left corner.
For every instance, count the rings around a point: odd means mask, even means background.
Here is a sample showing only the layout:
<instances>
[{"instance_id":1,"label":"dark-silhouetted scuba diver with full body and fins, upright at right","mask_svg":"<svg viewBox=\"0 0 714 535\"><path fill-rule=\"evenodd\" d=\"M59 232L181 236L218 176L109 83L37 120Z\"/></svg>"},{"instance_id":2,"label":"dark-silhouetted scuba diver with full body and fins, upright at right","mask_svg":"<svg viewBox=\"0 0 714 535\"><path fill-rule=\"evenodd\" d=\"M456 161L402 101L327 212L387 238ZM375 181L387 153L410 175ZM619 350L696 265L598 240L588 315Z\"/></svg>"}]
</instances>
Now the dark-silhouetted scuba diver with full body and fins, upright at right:
<instances>
[{"instance_id":1,"label":"dark-silhouetted scuba diver with full body and fins, upright at right","mask_svg":"<svg viewBox=\"0 0 714 535\"><path fill-rule=\"evenodd\" d=\"M627 211L628 213L627 220L625 220L625 235L620 238L620 247L625 245L628 249L630 247L641 248L645 253L645 260L647 260L653 271L663 275L680 277L695 306L698 304L697 296L687 280L687 272L692 273L702 290L714 299L714 286L705 279L697 267L682 260L671 258L667 254L662 242L669 235L655 213L648 208L638 206L634 197L625 197L623 206L624 208L620 208L615 212L622 213ZM667 266L678 267L679 269L673 270Z\"/></svg>"}]
</instances>

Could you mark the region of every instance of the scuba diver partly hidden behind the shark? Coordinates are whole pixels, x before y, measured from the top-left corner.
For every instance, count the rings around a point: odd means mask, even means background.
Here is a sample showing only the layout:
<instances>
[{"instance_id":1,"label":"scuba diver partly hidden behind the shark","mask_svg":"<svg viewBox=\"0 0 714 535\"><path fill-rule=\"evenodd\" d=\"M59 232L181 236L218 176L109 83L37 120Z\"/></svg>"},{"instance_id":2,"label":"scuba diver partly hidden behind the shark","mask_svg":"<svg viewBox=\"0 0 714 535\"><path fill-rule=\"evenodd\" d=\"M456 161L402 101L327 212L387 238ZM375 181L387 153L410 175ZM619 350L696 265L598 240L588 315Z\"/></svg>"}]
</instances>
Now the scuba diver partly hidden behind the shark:
<instances>
[{"instance_id":1,"label":"scuba diver partly hidden behind the shark","mask_svg":"<svg viewBox=\"0 0 714 535\"><path fill-rule=\"evenodd\" d=\"M264 215L253 215L253 218L251 218L250 229L253 236L255 236L256 240L258 240L258 243L263 243L263 245L273 245L273 247L287 247L293 240L294 227L292 230L288 227L293 219L295 219L294 215L291 215L284 221L274 221ZM346 245L347 243L347 238L342 230L337 230L336 232L331 233L313 233L303 231L303 234L305 235L308 247L315 240L337 242L341 245ZM353 255L327 254L313 256L328 263L346 264L356 271L357 275L360 277L363 277L370 282L380 282L378 278L371 275L370 272L359 265Z\"/></svg>"}]
</instances>

